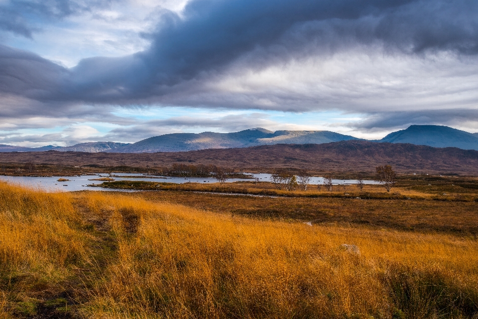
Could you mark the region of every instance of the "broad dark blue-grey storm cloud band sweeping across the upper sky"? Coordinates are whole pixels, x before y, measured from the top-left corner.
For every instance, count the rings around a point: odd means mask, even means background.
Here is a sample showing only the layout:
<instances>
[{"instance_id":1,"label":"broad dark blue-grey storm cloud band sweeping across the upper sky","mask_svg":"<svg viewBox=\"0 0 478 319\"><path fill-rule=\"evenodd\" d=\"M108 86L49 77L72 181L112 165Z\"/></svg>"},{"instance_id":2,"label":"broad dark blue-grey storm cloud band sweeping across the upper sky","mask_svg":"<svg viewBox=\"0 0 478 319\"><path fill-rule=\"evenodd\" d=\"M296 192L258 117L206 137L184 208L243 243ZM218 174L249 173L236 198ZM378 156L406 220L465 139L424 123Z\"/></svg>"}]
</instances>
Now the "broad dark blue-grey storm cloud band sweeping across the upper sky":
<instances>
[{"instance_id":1,"label":"broad dark blue-grey storm cloud band sweeping across the upper sky","mask_svg":"<svg viewBox=\"0 0 478 319\"><path fill-rule=\"evenodd\" d=\"M25 4L30 2L8 3L30 10ZM84 9L79 4L83 2L51 3L54 10L40 9L40 4L31 10L61 16ZM68 5L63 8L63 4ZM18 27L16 32L21 30ZM446 50L474 55L478 53L478 2L192 0L181 17L163 11L161 23L145 36L152 42L143 52L122 58L88 58L71 69L0 47L0 92L58 106L184 105L185 101L202 105L188 96L205 90L213 95L214 89L207 89L205 83L241 59L248 68L260 69L358 44L378 44L404 54ZM287 109L281 100L287 97L279 98L275 108ZM227 105L227 99L219 103Z\"/></svg>"}]
</instances>

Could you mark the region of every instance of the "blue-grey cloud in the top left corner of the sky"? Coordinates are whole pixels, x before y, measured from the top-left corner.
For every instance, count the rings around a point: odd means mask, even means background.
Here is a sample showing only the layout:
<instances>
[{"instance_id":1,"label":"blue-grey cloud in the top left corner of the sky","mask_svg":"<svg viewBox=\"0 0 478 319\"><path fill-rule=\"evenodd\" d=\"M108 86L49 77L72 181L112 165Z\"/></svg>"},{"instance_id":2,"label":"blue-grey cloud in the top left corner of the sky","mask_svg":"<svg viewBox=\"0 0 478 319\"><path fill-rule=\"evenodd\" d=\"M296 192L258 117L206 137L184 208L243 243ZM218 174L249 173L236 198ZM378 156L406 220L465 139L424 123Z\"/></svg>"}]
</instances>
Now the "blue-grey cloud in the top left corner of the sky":
<instances>
[{"instance_id":1,"label":"blue-grey cloud in the top left corner of the sky","mask_svg":"<svg viewBox=\"0 0 478 319\"><path fill-rule=\"evenodd\" d=\"M109 3L104 0L6 0L0 4L0 29L31 38L42 23Z\"/></svg>"}]
</instances>

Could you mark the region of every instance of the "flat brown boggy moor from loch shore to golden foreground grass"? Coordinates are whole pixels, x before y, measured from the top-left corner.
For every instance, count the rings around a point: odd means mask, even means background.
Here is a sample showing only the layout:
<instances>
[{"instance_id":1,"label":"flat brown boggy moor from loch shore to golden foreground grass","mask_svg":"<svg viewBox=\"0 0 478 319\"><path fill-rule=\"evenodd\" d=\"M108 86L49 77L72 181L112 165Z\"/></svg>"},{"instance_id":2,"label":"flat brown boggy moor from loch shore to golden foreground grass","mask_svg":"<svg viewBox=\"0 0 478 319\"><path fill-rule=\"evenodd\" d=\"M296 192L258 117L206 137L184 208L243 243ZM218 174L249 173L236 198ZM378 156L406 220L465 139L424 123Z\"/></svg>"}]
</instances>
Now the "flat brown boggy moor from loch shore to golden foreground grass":
<instances>
[{"instance_id":1,"label":"flat brown boggy moor from loch shore to golden foreground grass","mask_svg":"<svg viewBox=\"0 0 478 319\"><path fill-rule=\"evenodd\" d=\"M159 190L144 192L141 196L254 218L478 235L475 177L401 176L390 193L381 185L365 185L362 191L356 185L334 185L332 192L323 185L319 185L320 189L310 185L307 191L285 191L268 182L220 185L120 181L104 186Z\"/></svg>"}]
</instances>

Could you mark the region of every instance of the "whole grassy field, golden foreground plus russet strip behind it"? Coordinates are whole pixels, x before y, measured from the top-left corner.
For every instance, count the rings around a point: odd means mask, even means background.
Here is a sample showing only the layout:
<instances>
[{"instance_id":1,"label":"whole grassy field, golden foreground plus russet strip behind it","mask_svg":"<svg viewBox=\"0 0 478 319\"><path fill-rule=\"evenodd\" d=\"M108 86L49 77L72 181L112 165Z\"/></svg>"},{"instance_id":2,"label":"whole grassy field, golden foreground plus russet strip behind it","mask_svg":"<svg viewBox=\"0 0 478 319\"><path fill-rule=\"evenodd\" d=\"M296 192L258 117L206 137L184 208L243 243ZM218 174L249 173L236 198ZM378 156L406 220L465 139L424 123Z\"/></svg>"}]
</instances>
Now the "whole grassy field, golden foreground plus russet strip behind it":
<instances>
[{"instance_id":1,"label":"whole grassy field, golden foreground plus russet strip behind it","mask_svg":"<svg viewBox=\"0 0 478 319\"><path fill-rule=\"evenodd\" d=\"M478 203L401 187L417 198L0 183L0 318L478 318Z\"/></svg>"}]
</instances>

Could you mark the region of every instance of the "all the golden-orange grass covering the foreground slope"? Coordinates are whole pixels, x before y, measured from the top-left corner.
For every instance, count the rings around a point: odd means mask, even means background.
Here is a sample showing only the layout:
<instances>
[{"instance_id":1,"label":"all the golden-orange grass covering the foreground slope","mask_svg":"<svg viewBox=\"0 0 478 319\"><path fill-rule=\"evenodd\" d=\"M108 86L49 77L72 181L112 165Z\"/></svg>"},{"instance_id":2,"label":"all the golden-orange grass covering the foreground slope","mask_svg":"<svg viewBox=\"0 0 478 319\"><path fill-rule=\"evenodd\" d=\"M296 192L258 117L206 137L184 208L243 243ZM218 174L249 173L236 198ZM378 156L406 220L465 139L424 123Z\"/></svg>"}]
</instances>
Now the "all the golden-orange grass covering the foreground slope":
<instances>
[{"instance_id":1,"label":"all the golden-orange grass covering the foreground slope","mask_svg":"<svg viewBox=\"0 0 478 319\"><path fill-rule=\"evenodd\" d=\"M64 285L80 265L96 267L76 306L88 318L478 318L474 239L252 220L135 194L0 183L0 196L0 318L30 292L43 298L26 277L8 286L11 269ZM98 267L107 234L114 249Z\"/></svg>"}]
</instances>

